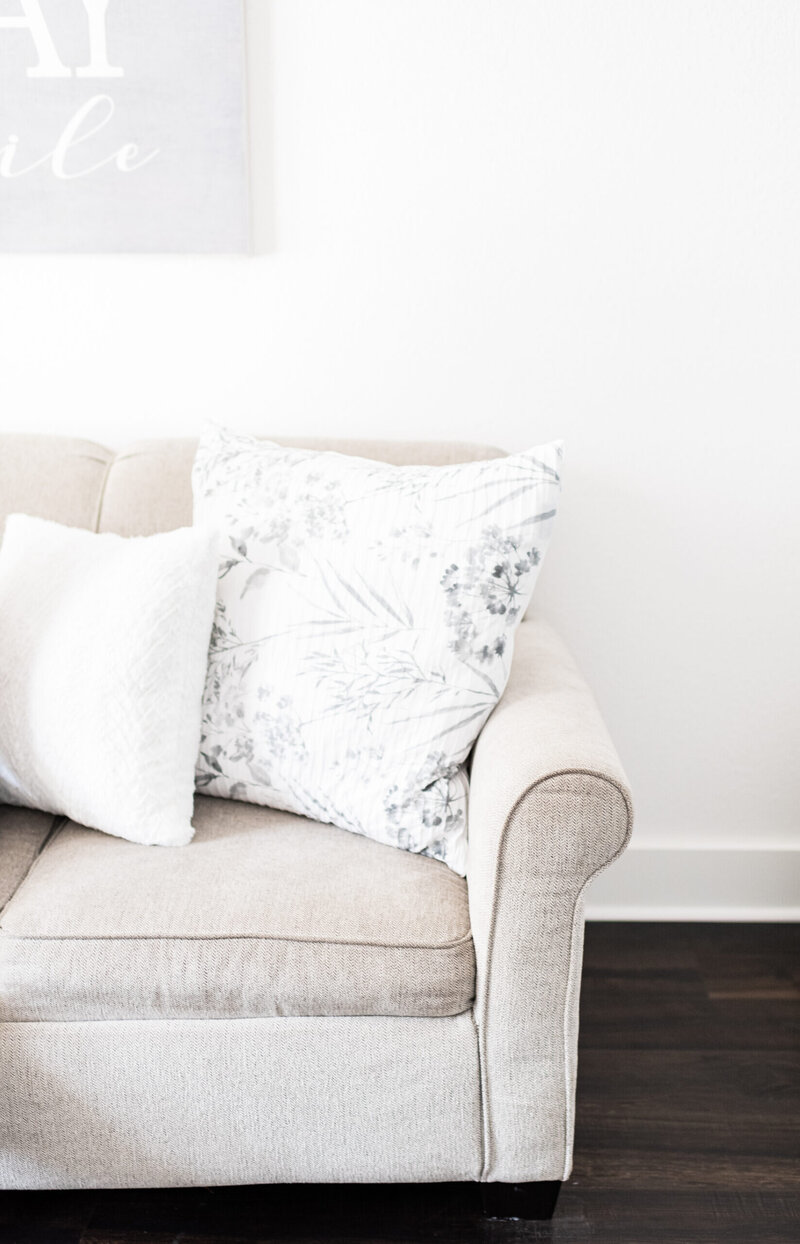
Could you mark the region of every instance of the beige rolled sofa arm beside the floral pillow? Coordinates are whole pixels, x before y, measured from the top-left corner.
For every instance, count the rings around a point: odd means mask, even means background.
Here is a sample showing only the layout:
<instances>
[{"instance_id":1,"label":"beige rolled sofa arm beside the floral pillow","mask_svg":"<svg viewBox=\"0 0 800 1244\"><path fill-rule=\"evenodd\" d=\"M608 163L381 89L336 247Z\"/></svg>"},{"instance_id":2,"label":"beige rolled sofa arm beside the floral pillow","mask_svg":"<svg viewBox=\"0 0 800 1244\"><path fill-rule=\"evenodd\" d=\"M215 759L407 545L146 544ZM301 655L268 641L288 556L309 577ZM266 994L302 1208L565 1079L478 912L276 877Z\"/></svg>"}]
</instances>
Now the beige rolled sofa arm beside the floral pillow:
<instances>
[{"instance_id":1,"label":"beige rolled sofa arm beside the floral pillow","mask_svg":"<svg viewBox=\"0 0 800 1244\"><path fill-rule=\"evenodd\" d=\"M631 827L628 785L588 687L550 626L523 622L472 766L484 1181L570 1173L582 894Z\"/></svg>"}]
</instances>

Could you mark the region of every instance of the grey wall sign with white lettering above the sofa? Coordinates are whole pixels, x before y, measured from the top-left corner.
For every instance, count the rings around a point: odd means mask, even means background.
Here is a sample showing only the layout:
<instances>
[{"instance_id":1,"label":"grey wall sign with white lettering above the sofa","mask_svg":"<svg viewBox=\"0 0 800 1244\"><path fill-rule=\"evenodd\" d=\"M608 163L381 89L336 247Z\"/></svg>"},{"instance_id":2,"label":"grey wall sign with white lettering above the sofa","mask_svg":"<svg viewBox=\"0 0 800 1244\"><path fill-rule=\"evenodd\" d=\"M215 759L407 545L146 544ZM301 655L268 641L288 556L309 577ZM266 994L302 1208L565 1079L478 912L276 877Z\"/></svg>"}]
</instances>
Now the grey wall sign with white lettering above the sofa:
<instances>
[{"instance_id":1,"label":"grey wall sign with white lettering above the sofa","mask_svg":"<svg viewBox=\"0 0 800 1244\"><path fill-rule=\"evenodd\" d=\"M243 0L0 0L0 250L245 251Z\"/></svg>"}]
</instances>

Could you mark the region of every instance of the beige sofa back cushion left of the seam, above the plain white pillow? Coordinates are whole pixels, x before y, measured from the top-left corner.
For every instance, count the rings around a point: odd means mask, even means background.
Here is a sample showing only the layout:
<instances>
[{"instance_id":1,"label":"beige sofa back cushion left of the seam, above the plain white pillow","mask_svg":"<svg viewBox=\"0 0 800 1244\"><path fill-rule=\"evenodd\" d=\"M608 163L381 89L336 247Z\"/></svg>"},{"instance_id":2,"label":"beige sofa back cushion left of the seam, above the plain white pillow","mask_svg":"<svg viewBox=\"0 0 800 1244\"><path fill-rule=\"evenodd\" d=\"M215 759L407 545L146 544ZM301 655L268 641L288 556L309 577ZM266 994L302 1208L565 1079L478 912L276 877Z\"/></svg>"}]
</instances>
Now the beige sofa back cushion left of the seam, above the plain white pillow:
<instances>
[{"instance_id":1,"label":"beige sofa back cushion left of the seam, above the plain white pillow","mask_svg":"<svg viewBox=\"0 0 800 1244\"><path fill-rule=\"evenodd\" d=\"M112 459L91 440L0 435L0 536L16 513L93 530Z\"/></svg>"}]
</instances>

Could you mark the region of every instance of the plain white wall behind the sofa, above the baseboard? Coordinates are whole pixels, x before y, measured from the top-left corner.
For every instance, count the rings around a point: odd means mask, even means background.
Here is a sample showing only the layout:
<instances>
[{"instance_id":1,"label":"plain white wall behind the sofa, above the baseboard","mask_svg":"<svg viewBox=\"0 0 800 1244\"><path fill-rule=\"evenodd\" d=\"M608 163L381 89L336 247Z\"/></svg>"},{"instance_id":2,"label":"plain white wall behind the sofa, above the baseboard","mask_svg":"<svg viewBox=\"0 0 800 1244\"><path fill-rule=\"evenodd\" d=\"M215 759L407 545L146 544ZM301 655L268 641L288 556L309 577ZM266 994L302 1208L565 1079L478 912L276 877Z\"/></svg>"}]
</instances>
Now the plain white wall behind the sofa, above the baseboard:
<instances>
[{"instance_id":1,"label":"plain white wall behind the sofa, above the baseboard","mask_svg":"<svg viewBox=\"0 0 800 1244\"><path fill-rule=\"evenodd\" d=\"M637 845L796 848L800 6L248 9L261 253L0 258L2 425L564 435Z\"/></svg>"}]
</instances>

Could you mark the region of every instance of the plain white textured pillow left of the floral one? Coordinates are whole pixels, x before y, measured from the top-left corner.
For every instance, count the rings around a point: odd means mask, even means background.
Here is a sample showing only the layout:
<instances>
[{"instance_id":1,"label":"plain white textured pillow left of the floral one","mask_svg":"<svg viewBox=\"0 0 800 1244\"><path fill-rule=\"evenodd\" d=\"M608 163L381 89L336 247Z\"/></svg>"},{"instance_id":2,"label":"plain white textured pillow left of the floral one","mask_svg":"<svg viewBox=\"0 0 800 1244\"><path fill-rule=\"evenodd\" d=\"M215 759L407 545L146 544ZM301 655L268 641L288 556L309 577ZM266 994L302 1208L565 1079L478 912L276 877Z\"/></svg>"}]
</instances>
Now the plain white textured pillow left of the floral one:
<instances>
[{"instance_id":1,"label":"plain white textured pillow left of the floral one","mask_svg":"<svg viewBox=\"0 0 800 1244\"><path fill-rule=\"evenodd\" d=\"M12 515L0 546L0 802L189 842L215 537Z\"/></svg>"}]
</instances>

